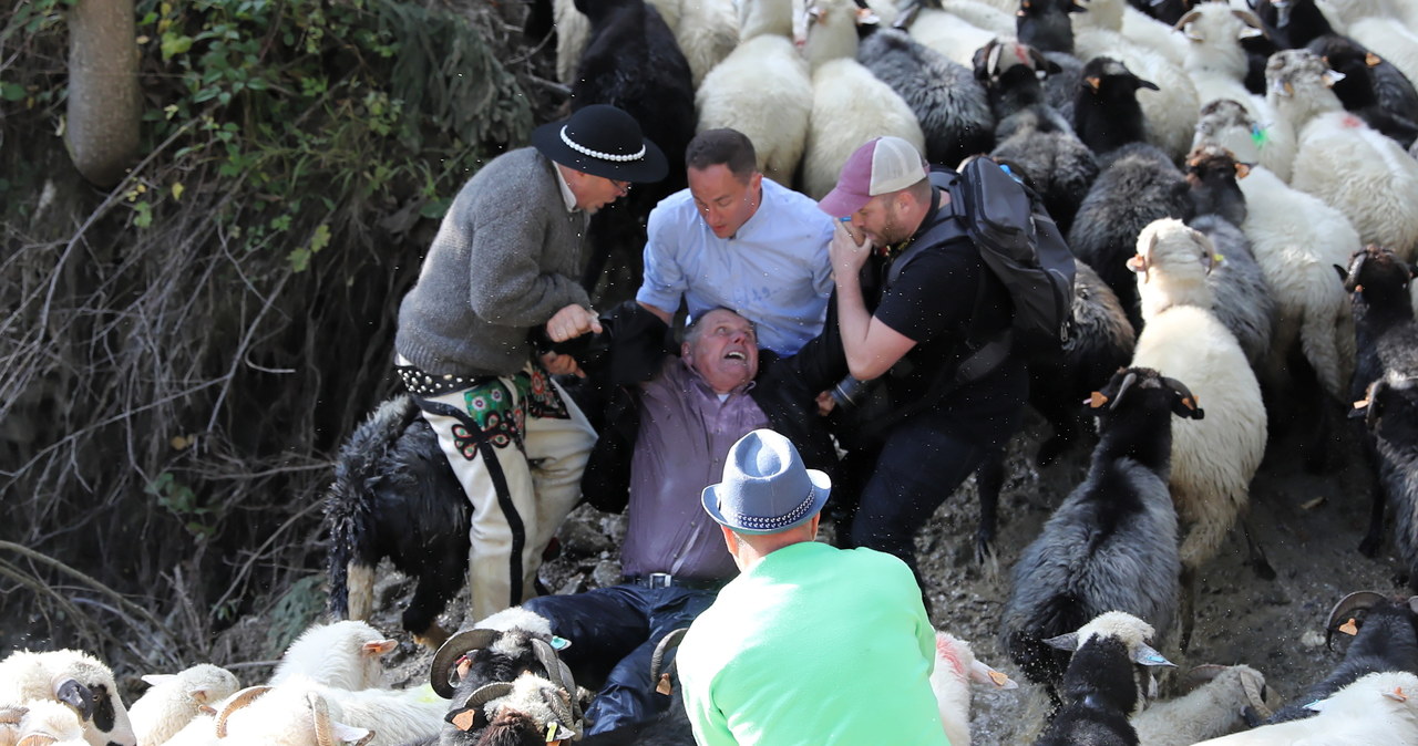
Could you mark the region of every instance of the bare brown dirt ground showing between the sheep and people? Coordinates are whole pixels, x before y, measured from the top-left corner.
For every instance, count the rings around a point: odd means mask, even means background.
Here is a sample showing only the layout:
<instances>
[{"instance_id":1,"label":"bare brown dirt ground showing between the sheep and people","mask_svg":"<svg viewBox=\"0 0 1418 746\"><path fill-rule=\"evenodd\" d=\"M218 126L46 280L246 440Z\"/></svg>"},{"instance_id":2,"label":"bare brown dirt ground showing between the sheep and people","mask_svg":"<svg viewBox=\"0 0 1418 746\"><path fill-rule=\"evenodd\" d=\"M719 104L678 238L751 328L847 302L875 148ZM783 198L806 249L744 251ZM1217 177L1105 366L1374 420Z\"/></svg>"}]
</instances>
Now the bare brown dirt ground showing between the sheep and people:
<instances>
[{"instance_id":1,"label":"bare brown dirt ground showing between the sheep and people","mask_svg":"<svg viewBox=\"0 0 1418 746\"><path fill-rule=\"evenodd\" d=\"M1021 682L1015 691L976 691L971 733L977 745L1027 743L1042 726L1046 699L998 645L997 624L1008 596L1010 568L1088 467L1086 449L1076 447L1049 469L1035 469L1032 456L1045 432L1042 420L1034 418L1011 444L993 562L978 565L973 558L978 517L973 480L946 500L917 536L934 624L971 641L980 660ZM1245 565L1245 542L1232 532L1221 556L1201 573L1191 648L1174 660L1183 671L1207 662L1245 662L1265 674L1272 699L1286 701L1340 660L1341 647L1327 651L1323 644L1324 616L1336 600L1361 589L1401 592L1391 539L1385 536L1375 559L1356 551L1367 522L1373 478L1364 473L1354 443L1344 440L1334 447L1344 466L1333 474L1313 476L1296 464L1292 443L1272 440L1252 483L1249 525L1276 578L1262 580ZM830 535L831 525L824 525ZM543 568L543 582L556 593L615 583L621 534L620 515L583 505L563 528L563 553ZM397 631L397 614L410 592L411 585L396 573L381 573L379 612L372 623ZM445 614L450 629L467 623L461 619L464 602L455 600ZM428 660L430 654L411 643L401 644L390 661L393 684L427 681Z\"/></svg>"}]
</instances>

